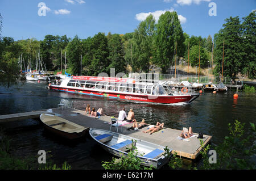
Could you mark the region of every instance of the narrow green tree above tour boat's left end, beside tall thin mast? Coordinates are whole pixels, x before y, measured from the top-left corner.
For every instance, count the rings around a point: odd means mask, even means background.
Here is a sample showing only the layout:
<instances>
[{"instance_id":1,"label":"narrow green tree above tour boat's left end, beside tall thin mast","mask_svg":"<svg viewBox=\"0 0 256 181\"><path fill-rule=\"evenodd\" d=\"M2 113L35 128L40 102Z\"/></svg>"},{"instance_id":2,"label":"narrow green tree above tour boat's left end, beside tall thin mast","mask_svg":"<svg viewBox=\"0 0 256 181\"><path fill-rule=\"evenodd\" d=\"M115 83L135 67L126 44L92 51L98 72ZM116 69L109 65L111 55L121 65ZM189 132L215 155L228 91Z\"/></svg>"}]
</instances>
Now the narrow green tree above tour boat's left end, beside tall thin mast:
<instances>
[{"instance_id":1,"label":"narrow green tree above tour boat's left end, beside tall thin mast","mask_svg":"<svg viewBox=\"0 0 256 181\"><path fill-rule=\"evenodd\" d=\"M67 45L67 64L69 73L80 75L82 43L76 35Z\"/></svg>"}]
</instances>

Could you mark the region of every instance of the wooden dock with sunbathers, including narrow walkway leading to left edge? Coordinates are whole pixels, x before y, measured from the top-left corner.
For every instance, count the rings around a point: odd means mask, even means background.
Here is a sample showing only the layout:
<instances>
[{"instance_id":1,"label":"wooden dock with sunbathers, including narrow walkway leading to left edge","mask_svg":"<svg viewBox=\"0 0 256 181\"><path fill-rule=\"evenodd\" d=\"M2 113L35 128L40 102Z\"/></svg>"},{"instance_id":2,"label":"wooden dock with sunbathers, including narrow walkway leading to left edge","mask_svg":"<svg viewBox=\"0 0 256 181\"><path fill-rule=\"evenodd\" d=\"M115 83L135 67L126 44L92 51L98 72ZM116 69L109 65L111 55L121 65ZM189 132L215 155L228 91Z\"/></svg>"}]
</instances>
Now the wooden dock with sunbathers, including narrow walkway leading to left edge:
<instances>
[{"instance_id":1,"label":"wooden dock with sunbathers, including narrow walkway leading to left edge","mask_svg":"<svg viewBox=\"0 0 256 181\"><path fill-rule=\"evenodd\" d=\"M63 117L73 123L82 125L85 128L97 128L104 129L109 131L110 129L110 116L101 116L100 119L96 119L95 117L90 117L88 115L84 115L84 111L76 110L76 109L59 109L52 108L53 113L56 113L57 116ZM6 121L15 121L15 120L24 120L31 118L38 118L41 113L49 113L46 111L32 111L32 112L24 112L24 113L16 113L11 115L0 115L0 123ZM159 120L160 122L160 120ZM159 132L155 132L153 134L143 133L142 131L146 131L148 127L144 127L139 129L139 131L127 131L127 128L130 128L132 123L126 124L122 126L122 134L125 134L130 137L137 138L139 140L144 140L148 142L152 142L154 144L168 146L172 149L172 153L175 151L177 155L188 158L188 159L196 159L200 154L201 145L200 140L196 137L192 137L188 142L183 140L177 140L177 136L181 133L180 130L171 129L171 128L163 128ZM112 128L112 131L115 131L115 127ZM121 132L121 128L118 129L118 133ZM195 133L197 134L197 133ZM204 135L203 141L204 146L207 146L212 139L212 136Z\"/></svg>"}]
</instances>

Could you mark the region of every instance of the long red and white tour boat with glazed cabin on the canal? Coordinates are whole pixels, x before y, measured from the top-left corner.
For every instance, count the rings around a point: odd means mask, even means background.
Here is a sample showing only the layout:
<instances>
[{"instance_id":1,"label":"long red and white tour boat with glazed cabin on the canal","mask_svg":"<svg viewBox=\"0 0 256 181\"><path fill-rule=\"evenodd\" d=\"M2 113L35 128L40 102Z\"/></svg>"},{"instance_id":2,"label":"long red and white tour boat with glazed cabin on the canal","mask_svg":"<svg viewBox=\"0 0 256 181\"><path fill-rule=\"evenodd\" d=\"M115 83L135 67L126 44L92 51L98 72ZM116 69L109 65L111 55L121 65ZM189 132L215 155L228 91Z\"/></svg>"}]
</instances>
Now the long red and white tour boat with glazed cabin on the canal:
<instances>
[{"instance_id":1,"label":"long red and white tour boat with glazed cabin on the canal","mask_svg":"<svg viewBox=\"0 0 256 181\"><path fill-rule=\"evenodd\" d=\"M115 77L73 76L71 79L64 79L60 85L50 83L48 89L118 100L165 104L190 103L199 96L186 91L174 92L168 86L157 83Z\"/></svg>"}]
</instances>

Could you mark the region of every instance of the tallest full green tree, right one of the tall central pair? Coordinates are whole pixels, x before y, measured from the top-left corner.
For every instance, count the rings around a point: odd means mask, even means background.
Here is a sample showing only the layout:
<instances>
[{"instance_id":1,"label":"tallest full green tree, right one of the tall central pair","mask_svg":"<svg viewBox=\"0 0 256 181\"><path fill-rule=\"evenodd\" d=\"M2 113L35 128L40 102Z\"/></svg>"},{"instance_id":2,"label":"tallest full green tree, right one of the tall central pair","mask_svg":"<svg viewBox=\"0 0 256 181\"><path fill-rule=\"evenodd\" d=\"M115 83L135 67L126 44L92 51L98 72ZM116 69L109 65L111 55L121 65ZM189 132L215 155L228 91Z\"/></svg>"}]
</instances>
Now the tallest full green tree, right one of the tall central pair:
<instances>
[{"instance_id":1,"label":"tallest full green tree, right one of the tall central pair","mask_svg":"<svg viewBox=\"0 0 256 181\"><path fill-rule=\"evenodd\" d=\"M184 35L178 19L177 12L166 11L162 14L156 24L156 58L155 64L162 68L162 73L172 64L175 55L175 45L177 42L177 56L184 54Z\"/></svg>"}]
</instances>

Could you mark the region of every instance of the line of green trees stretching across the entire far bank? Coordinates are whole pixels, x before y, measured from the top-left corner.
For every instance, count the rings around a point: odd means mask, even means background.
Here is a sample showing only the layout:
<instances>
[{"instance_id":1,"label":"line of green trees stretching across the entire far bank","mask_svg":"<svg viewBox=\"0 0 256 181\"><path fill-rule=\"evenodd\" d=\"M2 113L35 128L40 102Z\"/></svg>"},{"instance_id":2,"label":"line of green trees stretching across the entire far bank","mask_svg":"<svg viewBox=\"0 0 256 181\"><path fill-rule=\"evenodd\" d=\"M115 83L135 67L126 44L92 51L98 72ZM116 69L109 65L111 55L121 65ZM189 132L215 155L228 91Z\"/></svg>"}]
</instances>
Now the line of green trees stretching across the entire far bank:
<instances>
[{"instance_id":1,"label":"line of green trees stretching across the entire far bank","mask_svg":"<svg viewBox=\"0 0 256 181\"><path fill-rule=\"evenodd\" d=\"M61 70L61 60L64 65L66 53L67 72L73 75L80 75L80 72L82 75L109 74L111 68L115 68L115 73L148 72L152 65L158 66L162 73L167 73L168 68L177 64L181 57L185 64L189 59L189 65L199 66L200 49L200 67L211 65L213 51L215 75L221 74L224 57L225 77L235 78L238 73L242 73L254 79L255 11L242 19L242 22L238 16L225 19L226 23L214 35L214 40L211 36L189 36L183 32L175 11L165 12L157 23L154 16L147 16L134 32L109 32L108 35L98 32L87 39L46 35L44 40L32 38L14 41L12 37L2 37L0 34L0 74L15 74L20 54L25 64L31 62L32 69L35 69L39 49L47 70ZM2 28L2 16L0 20Z\"/></svg>"}]
</instances>

